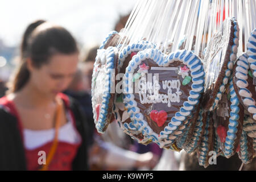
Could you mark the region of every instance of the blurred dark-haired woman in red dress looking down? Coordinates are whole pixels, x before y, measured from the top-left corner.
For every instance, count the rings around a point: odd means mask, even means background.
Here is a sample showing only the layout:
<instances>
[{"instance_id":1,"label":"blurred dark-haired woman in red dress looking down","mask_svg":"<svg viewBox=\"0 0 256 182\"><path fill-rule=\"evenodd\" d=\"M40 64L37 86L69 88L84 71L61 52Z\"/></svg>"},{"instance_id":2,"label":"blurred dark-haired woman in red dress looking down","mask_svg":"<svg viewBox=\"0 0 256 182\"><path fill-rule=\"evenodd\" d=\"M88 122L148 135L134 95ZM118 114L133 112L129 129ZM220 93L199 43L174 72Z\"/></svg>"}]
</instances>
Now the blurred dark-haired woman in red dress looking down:
<instances>
[{"instance_id":1,"label":"blurred dark-haired woman in red dress looking down","mask_svg":"<svg viewBox=\"0 0 256 182\"><path fill-rule=\"evenodd\" d=\"M0 99L0 169L86 170L86 121L62 94L79 50L65 28L38 20L24 33L21 63Z\"/></svg>"}]
</instances>

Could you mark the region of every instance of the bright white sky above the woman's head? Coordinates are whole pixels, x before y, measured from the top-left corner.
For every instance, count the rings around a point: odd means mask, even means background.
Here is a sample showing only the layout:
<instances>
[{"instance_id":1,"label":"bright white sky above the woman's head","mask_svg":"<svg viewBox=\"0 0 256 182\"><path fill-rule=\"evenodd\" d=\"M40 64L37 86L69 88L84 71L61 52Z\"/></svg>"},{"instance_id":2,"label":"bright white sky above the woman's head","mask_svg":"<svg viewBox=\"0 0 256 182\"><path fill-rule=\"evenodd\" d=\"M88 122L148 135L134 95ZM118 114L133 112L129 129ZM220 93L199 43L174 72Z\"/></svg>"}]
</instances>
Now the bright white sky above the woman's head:
<instances>
[{"instance_id":1,"label":"bright white sky above the woman's head","mask_svg":"<svg viewBox=\"0 0 256 182\"><path fill-rule=\"evenodd\" d=\"M83 44L101 43L119 15L129 13L137 0L1 0L0 39L17 46L27 25L36 19L59 24Z\"/></svg>"}]
</instances>

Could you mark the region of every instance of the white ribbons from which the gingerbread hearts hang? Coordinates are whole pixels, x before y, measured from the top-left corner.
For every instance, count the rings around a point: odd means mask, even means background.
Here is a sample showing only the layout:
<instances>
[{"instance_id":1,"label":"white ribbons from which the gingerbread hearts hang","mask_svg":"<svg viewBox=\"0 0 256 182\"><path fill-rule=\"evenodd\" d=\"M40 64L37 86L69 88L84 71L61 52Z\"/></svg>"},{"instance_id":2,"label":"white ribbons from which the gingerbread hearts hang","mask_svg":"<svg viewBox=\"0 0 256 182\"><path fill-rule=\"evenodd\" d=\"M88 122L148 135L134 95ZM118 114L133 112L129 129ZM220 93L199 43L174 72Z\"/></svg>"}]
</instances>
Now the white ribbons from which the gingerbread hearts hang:
<instances>
[{"instance_id":1,"label":"white ribbons from which the gingerbread hearts hang","mask_svg":"<svg viewBox=\"0 0 256 182\"><path fill-rule=\"evenodd\" d=\"M176 51L203 52L210 38L226 18L235 17L240 27L238 56L246 50L250 32L256 25L256 2L253 0L145 0L138 1L122 32L122 48L128 43L146 39L166 53L168 44Z\"/></svg>"}]
</instances>

